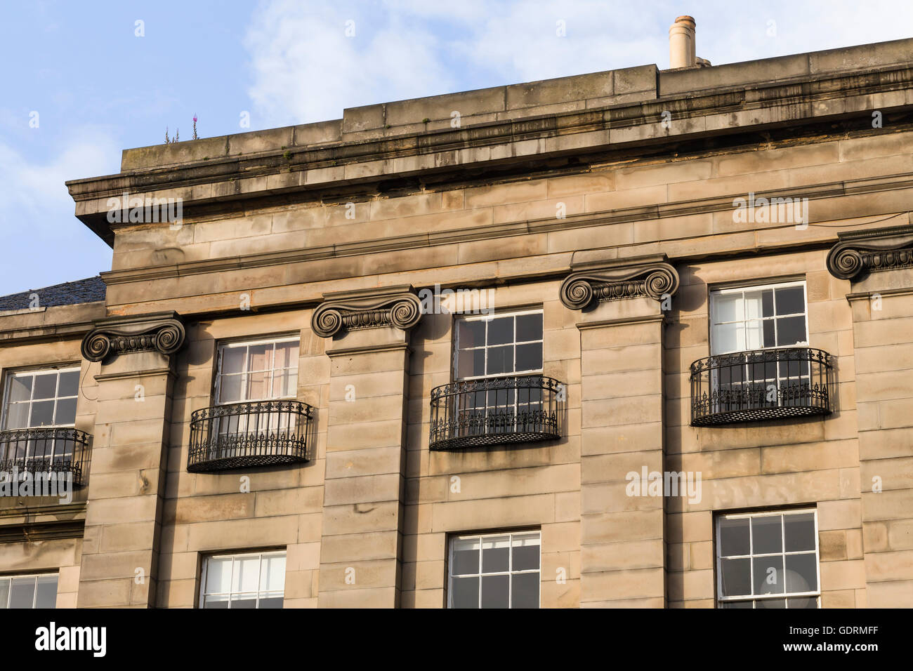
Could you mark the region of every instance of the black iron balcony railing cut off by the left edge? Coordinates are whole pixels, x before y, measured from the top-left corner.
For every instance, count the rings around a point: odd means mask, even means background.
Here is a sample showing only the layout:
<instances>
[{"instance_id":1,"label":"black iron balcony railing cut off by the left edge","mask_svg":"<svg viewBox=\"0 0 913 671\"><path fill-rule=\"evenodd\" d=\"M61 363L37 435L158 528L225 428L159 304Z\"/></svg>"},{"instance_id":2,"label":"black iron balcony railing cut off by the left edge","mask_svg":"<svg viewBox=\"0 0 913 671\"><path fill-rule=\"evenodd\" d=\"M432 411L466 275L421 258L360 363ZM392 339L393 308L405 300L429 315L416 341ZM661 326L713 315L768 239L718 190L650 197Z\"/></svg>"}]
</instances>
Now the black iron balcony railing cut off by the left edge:
<instances>
[{"instance_id":1,"label":"black iron balcony railing cut off by the left edge","mask_svg":"<svg viewBox=\"0 0 913 671\"><path fill-rule=\"evenodd\" d=\"M70 474L74 486L86 484L89 476L87 433L73 428L32 427L0 431L0 472L18 474Z\"/></svg>"}]
</instances>

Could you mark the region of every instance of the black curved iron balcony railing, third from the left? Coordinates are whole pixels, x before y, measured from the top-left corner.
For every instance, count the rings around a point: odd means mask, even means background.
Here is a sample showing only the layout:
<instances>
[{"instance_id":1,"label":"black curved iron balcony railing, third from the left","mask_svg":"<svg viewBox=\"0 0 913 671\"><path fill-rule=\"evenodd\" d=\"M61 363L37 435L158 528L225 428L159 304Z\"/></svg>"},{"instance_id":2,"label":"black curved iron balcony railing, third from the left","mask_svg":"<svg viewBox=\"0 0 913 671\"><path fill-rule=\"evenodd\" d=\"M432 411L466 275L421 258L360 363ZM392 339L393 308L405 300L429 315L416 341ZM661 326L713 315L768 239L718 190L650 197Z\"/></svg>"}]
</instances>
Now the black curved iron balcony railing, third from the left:
<instances>
[{"instance_id":1,"label":"black curved iron balcony railing, third from the left","mask_svg":"<svg viewBox=\"0 0 913 671\"><path fill-rule=\"evenodd\" d=\"M564 385L543 375L486 378L431 391L432 450L561 437Z\"/></svg>"}]
</instances>

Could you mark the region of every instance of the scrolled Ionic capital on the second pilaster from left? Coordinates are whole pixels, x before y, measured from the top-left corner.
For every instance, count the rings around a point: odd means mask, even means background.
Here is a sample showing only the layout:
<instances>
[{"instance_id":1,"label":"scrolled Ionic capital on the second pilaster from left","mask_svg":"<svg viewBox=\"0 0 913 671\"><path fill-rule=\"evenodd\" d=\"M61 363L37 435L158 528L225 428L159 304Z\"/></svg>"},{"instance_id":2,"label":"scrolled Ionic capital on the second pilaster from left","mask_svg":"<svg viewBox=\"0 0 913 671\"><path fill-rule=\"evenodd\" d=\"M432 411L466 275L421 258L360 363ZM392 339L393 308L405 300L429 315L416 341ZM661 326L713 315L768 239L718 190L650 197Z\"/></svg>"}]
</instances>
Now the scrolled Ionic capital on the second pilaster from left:
<instances>
[{"instance_id":1,"label":"scrolled Ionic capital on the second pilaster from left","mask_svg":"<svg viewBox=\"0 0 913 671\"><path fill-rule=\"evenodd\" d=\"M311 315L310 328L321 338L331 338L341 330L385 326L409 330L421 317L422 303L411 285L334 291L323 295Z\"/></svg>"}]
</instances>

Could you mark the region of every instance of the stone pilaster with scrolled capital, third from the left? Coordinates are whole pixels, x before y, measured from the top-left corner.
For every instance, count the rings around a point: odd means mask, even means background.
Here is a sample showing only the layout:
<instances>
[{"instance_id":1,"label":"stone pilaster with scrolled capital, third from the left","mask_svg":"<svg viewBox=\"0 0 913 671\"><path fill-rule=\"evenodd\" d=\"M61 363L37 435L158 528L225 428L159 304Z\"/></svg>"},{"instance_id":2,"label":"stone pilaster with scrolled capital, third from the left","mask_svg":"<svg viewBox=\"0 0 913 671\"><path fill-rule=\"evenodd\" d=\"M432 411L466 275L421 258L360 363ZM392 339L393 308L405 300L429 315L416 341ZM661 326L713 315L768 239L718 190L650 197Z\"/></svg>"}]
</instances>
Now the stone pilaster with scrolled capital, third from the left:
<instances>
[{"instance_id":1,"label":"stone pilaster with scrolled capital, third from the left","mask_svg":"<svg viewBox=\"0 0 913 671\"><path fill-rule=\"evenodd\" d=\"M662 473L663 309L678 275L662 255L572 266L580 309L581 606L666 605L662 496L628 496L628 473ZM639 492L639 490L638 490Z\"/></svg>"}]
</instances>

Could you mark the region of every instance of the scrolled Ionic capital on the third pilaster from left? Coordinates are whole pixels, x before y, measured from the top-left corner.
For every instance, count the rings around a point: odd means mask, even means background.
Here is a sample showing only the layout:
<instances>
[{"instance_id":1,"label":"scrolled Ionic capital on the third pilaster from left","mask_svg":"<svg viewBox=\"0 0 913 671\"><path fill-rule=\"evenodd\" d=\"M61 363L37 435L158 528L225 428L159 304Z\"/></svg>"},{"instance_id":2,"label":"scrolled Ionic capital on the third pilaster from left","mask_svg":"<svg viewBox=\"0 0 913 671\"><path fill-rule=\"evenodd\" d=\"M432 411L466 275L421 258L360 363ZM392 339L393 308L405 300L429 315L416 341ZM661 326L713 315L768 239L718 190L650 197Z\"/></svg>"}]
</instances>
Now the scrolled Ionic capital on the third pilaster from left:
<instances>
[{"instance_id":1,"label":"scrolled Ionic capital on the third pilaster from left","mask_svg":"<svg viewBox=\"0 0 913 671\"><path fill-rule=\"evenodd\" d=\"M678 289L678 273L665 262L625 267L587 268L571 273L561 283L561 302L570 309L586 309L593 302L649 297L660 300Z\"/></svg>"}]
</instances>

